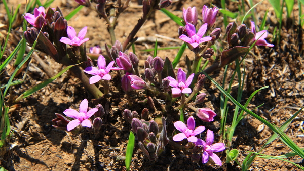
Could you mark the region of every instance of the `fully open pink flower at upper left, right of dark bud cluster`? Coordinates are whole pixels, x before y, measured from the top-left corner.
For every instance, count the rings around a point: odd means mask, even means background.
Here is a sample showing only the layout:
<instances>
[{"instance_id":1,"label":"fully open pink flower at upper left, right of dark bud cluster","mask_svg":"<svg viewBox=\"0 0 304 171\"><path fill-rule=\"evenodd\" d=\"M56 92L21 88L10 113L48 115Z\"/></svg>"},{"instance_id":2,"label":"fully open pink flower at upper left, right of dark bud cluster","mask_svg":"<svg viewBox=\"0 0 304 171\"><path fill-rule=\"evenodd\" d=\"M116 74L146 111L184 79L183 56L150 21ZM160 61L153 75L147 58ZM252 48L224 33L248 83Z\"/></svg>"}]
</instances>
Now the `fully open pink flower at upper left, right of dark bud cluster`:
<instances>
[{"instance_id":1,"label":"fully open pink flower at upper left, right of dark bud cluster","mask_svg":"<svg viewBox=\"0 0 304 171\"><path fill-rule=\"evenodd\" d=\"M64 44L78 47L81 44L83 44L84 42L89 40L89 38L85 38L85 36L87 34L87 27L84 27L83 29L81 29L78 33L78 36L76 36L76 31L71 26L67 26L66 32L67 32L67 35L69 38L61 37L61 39L59 40L60 42L63 42Z\"/></svg>"}]
</instances>

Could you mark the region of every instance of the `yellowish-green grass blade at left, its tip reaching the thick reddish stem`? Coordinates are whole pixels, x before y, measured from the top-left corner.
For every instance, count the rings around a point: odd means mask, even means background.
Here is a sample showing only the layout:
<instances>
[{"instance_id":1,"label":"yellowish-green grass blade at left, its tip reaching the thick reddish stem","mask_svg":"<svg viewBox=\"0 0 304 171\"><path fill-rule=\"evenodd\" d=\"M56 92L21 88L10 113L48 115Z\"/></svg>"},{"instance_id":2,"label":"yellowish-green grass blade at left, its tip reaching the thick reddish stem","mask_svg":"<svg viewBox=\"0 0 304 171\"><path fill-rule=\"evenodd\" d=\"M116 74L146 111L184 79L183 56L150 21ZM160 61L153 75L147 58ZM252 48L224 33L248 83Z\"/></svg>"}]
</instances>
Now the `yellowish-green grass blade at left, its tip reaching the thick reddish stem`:
<instances>
[{"instance_id":1,"label":"yellowish-green grass blade at left, its tip reaching the thick reddish stem","mask_svg":"<svg viewBox=\"0 0 304 171\"><path fill-rule=\"evenodd\" d=\"M80 64L80 63L79 63ZM76 65L79 65L79 64L76 64ZM60 71L58 74L56 74L55 76L53 76L52 78L49 78L47 80L44 80L43 82L37 84L36 86L34 86L33 88L25 91L22 95L20 95L16 100L15 102L17 101L20 101L21 99L23 98L26 98L27 96L35 93L36 91L39 91L40 89L46 87L49 83L51 83L52 81L54 81L56 78L58 78L59 76L61 76L65 71L67 71L68 69L70 69L71 67L73 66L76 66L76 65L70 65L70 66L67 66L65 67L62 71Z\"/></svg>"}]
</instances>

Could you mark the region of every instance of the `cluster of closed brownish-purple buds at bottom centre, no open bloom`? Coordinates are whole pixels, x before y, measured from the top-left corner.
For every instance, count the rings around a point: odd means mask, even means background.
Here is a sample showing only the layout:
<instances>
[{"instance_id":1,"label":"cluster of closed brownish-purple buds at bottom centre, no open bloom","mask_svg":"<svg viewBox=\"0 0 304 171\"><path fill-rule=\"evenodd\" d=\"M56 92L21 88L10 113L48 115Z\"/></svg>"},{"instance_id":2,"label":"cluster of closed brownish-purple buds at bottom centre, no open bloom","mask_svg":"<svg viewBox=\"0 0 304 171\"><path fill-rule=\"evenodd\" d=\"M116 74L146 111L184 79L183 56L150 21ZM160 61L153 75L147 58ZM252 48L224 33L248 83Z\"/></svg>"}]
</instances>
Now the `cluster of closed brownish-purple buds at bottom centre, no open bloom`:
<instances>
[{"instance_id":1,"label":"cluster of closed brownish-purple buds at bottom centre, no open bloom","mask_svg":"<svg viewBox=\"0 0 304 171\"><path fill-rule=\"evenodd\" d=\"M169 143L165 117L155 118L149 122L133 118L131 125L133 132L137 135L138 145L143 154L150 161L157 159Z\"/></svg>"}]
</instances>

